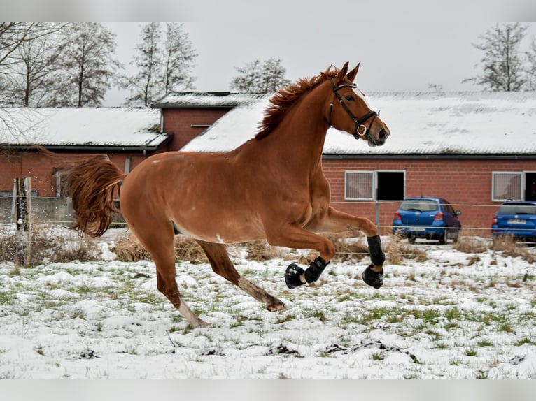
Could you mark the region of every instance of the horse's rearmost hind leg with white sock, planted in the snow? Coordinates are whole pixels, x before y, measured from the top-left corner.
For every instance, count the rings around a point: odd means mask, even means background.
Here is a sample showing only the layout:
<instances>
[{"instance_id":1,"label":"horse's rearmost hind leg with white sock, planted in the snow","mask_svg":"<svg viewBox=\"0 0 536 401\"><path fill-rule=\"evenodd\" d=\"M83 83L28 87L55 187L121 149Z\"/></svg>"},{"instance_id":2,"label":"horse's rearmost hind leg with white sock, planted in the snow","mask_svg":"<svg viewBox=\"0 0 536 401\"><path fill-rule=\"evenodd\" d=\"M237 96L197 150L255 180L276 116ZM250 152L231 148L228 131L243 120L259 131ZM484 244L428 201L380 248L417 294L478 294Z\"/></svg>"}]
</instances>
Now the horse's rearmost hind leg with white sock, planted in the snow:
<instances>
[{"instance_id":1,"label":"horse's rearmost hind leg with white sock, planted in the snow","mask_svg":"<svg viewBox=\"0 0 536 401\"><path fill-rule=\"evenodd\" d=\"M155 261L158 291L169 299L178 309L178 312L183 315L184 319L190 323L190 326L207 326L208 323L199 319L199 316L192 312L192 309L186 305L186 302L181 297L181 293L178 291L175 280L174 233L171 230L171 226L164 227L158 232L143 232L141 235L137 235L136 233L136 237L139 238L141 245L147 249L153 257L153 261Z\"/></svg>"}]
</instances>

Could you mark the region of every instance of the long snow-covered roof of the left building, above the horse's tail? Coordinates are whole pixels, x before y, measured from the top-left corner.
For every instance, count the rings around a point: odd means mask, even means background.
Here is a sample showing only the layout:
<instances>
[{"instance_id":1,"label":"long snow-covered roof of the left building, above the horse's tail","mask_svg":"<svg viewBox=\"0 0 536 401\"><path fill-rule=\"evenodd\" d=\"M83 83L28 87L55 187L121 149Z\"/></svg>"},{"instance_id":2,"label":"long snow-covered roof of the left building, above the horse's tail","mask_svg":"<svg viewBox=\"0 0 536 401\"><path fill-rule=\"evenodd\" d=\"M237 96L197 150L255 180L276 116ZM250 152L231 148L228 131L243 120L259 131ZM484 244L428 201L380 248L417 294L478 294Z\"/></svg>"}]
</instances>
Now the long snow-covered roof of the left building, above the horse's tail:
<instances>
[{"instance_id":1,"label":"long snow-covered roof of the left building, above the horse's tail","mask_svg":"<svg viewBox=\"0 0 536 401\"><path fill-rule=\"evenodd\" d=\"M160 111L148 108L3 108L0 145L155 149Z\"/></svg>"}]
</instances>

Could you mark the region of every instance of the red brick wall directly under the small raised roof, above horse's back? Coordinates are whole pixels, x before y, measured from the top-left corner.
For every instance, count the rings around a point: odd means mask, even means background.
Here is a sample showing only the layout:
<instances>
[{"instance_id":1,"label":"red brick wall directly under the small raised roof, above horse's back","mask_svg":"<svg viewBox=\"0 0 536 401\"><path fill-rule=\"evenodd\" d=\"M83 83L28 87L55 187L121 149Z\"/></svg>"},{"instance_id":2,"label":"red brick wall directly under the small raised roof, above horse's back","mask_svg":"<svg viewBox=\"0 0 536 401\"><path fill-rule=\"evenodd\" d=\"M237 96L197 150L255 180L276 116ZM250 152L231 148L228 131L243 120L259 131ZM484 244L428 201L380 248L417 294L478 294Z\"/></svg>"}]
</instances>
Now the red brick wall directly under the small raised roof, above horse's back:
<instances>
[{"instance_id":1,"label":"red brick wall directly under the small raised roof, above horse's back","mask_svg":"<svg viewBox=\"0 0 536 401\"><path fill-rule=\"evenodd\" d=\"M173 133L170 150L179 150L208 128L230 108L167 108L162 109L164 132Z\"/></svg>"}]
</instances>

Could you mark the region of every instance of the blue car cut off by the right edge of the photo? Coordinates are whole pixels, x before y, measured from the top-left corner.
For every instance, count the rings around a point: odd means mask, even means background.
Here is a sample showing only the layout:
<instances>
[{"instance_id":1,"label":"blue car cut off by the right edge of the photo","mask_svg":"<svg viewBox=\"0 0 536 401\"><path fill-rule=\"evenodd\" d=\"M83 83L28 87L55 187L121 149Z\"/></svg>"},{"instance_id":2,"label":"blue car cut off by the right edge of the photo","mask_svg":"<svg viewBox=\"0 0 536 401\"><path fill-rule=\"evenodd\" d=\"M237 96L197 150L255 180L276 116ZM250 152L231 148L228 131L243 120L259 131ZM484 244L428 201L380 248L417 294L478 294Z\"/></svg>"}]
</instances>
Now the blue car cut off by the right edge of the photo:
<instances>
[{"instance_id":1,"label":"blue car cut off by the right edge of the photo","mask_svg":"<svg viewBox=\"0 0 536 401\"><path fill-rule=\"evenodd\" d=\"M507 201L491 223L493 238L512 235L514 240L536 242L536 201Z\"/></svg>"}]
</instances>

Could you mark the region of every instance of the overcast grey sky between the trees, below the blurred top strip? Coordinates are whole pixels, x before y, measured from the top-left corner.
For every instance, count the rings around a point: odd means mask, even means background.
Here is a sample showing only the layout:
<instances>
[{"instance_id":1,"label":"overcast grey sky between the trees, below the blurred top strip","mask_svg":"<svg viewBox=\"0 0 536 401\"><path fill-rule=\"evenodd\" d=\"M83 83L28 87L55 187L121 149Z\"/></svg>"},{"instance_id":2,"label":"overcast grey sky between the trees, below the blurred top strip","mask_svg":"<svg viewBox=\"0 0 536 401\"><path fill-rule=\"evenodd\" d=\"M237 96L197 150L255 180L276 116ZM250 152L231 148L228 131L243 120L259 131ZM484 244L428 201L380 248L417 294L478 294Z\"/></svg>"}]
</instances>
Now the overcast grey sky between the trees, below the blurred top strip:
<instances>
[{"instance_id":1,"label":"overcast grey sky between the trees, below the blurred top strip","mask_svg":"<svg viewBox=\"0 0 536 401\"><path fill-rule=\"evenodd\" d=\"M358 62L357 83L363 92L427 91L441 85L444 91L480 90L462 83L481 72L475 68L482 52L472 43L497 22L453 21L449 17L422 20L355 17L355 23L318 20L318 11L303 20L288 22L267 18L264 22L187 22L185 31L197 50L195 89L201 92L226 91L235 67L254 59L281 59L286 78L291 81L310 77L330 64L340 67L345 61ZM116 35L116 56L127 68L140 42L142 23L106 23ZM526 44L536 40L536 23L530 23ZM106 105L119 105L125 92L112 90Z\"/></svg>"}]
</instances>

